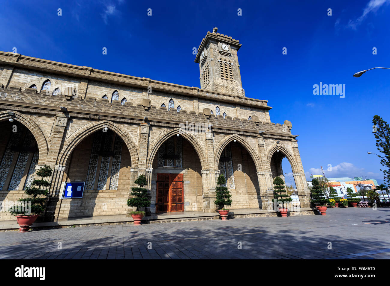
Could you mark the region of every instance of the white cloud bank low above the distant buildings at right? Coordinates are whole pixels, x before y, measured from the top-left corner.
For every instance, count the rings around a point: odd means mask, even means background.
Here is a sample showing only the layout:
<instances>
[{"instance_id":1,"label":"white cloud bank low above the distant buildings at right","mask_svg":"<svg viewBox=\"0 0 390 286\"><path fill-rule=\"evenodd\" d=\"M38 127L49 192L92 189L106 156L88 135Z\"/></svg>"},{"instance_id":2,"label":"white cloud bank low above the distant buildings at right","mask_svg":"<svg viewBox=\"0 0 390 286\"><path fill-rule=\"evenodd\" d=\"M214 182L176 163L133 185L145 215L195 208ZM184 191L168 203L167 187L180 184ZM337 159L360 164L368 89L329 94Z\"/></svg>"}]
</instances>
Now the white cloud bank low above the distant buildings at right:
<instances>
[{"instance_id":1,"label":"white cloud bank low above the distant buildings at right","mask_svg":"<svg viewBox=\"0 0 390 286\"><path fill-rule=\"evenodd\" d=\"M359 168L352 163L342 162L336 166L323 167L325 177L337 178L337 177L367 177L371 179L381 179L382 173L368 172L364 168ZM309 172L305 172L306 179L310 180L310 175L322 175L321 168L310 168Z\"/></svg>"}]
</instances>

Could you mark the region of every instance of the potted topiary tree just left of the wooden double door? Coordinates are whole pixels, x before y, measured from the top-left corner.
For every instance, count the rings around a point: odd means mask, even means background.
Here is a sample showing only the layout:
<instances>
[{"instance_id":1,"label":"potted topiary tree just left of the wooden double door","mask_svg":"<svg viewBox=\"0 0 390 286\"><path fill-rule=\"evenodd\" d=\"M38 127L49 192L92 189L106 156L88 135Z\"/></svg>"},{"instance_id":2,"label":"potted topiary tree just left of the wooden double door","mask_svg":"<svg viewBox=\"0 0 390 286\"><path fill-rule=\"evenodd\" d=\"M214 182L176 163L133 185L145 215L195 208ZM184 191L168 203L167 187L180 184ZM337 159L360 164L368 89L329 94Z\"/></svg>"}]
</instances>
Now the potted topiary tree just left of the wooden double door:
<instances>
[{"instance_id":1,"label":"potted topiary tree just left of the wooden double door","mask_svg":"<svg viewBox=\"0 0 390 286\"><path fill-rule=\"evenodd\" d=\"M130 214L134 219L134 225L141 225L141 220L145 216L145 212L140 211L140 207L149 207L150 197L147 193L147 189L145 189L145 186L147 185L145 175L139 175L134 182L138 185L138 187L131 188L131 195L135 196L135 198L129 198L127 200L127 205L130 207L137 207L137 210L130 212Z\"/></svg>"}]
</instances>

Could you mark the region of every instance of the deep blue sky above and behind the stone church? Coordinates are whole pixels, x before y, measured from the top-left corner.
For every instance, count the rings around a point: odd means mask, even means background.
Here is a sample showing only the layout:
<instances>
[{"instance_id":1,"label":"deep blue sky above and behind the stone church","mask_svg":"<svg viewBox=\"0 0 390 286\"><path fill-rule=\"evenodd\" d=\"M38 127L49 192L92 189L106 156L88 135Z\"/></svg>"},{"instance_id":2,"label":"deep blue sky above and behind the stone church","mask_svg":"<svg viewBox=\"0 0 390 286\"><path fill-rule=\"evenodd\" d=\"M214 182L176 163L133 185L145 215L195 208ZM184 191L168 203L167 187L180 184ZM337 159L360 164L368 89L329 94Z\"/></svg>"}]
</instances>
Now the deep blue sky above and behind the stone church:
<instances>
[{"instance_id":1,"label":"deep blue sky above and behind the stone church","mask_svg":"<svg viewBox=\"0 0 390 286\"><path fill-rule=\"evenodd\" d=\"M193 47L216 26L242 44L246 96L268 100L272 122L293 123L307 178L321 165L327 177L383 178L367 152L376 152L372 117L390 121L390 70L352 75L390 67L390 0L19 1L2 9L2 51L198 87ZM313 95L319 82L345 84L345 98Z\"/></svg>"}]
</instances>

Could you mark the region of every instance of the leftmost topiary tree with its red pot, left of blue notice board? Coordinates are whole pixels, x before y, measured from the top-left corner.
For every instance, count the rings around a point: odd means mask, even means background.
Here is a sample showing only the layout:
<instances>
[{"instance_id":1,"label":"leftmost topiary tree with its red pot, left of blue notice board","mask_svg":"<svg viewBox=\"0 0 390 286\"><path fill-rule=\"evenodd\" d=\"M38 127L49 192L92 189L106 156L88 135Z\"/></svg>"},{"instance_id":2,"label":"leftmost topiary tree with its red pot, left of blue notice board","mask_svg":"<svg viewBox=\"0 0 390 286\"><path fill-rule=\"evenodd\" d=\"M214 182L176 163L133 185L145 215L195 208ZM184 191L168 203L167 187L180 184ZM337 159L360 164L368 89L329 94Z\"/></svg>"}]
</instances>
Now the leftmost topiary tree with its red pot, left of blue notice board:
<instances>
[{"instance_id":1,"label":"leftmost topiary tree with its red pot, left of blue notice board","mask_svg":"<svg viewBox=\"0 0 390 286\"><path fill-rule=\"evenodd\" d=\"M35 220L45 211L45 203L49 197L49 191L46 187L50 186L50 182L43 178L50 177L53 174L53 169L44 165L37 170L37 176L40 180L34 179L31 187L25 189L25 194L29 197L20 198L18 204L9 208L11 214L16 215L16 220L20 226L19 232L28 232ZM45 189L46 188L46 189Z\"/></svg>"}]
</instances>

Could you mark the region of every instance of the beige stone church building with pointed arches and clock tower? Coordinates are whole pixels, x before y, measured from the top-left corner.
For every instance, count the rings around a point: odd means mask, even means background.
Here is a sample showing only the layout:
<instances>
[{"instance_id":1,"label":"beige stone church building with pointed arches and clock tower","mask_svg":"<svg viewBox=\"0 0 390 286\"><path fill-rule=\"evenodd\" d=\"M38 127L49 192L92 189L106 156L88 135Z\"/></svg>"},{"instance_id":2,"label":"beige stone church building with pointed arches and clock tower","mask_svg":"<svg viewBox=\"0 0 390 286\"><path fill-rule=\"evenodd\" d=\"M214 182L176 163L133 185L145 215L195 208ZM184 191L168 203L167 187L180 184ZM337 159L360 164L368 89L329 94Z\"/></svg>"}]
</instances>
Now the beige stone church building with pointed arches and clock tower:
<instances>
[{"instance_id":1,"label":"beige stone church building with pointed arches and clock tower","mask_svg":"<svg viewBox=\"0 0 390 286\"><path fill-rule=\"evenodd\" d=\"M0 201L18 200L50 165L51 219L127 214L140 174L152 214L214 212L219 174L231 209L266 209L287 158L308 207L298 135L290 121L271 123L267 100L245 96L240 46L207 33L200 88L0 52ZM83 197L63 198L65 182L85 182Z\"/></svg>"}]
</instances>

